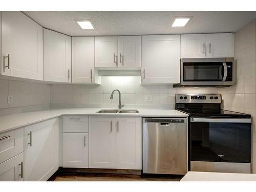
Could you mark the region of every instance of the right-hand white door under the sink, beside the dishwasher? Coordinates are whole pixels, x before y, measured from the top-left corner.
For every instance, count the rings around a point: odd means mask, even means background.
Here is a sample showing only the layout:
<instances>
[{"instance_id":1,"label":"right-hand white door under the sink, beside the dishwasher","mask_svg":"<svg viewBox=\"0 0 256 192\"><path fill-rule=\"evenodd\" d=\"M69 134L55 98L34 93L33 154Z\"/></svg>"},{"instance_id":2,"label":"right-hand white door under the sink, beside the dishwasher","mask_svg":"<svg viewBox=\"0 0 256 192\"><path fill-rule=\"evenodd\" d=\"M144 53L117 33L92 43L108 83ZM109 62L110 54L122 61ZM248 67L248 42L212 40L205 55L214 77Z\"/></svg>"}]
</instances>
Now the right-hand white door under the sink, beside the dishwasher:
<instances>
[{"instance_id":1,"label":"right-hand white door under the sink, beside the dishwasher","mask_svg":"<svg viewBox=\"0 0 256 192\"><path fill-rule=\"evenodd\" d=\"M141 169L141 117L116 117L115 168Z\"/></svg>"}]
</instances>

